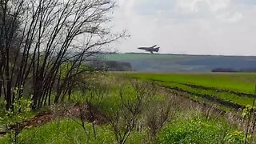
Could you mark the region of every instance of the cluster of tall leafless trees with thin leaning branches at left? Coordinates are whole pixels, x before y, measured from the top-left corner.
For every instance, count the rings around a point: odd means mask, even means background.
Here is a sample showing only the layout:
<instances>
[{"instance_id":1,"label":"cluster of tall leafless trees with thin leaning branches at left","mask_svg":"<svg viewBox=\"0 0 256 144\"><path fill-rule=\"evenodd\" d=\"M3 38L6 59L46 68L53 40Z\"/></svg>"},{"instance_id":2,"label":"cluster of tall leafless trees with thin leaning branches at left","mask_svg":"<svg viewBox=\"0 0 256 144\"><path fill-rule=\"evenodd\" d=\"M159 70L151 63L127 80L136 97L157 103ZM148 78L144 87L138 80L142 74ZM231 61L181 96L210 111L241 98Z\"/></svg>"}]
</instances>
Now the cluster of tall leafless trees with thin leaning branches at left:
<instances>
[{"instance_id":1,"label":"cluster of tall leafless trees with thin leaning branches at left","mask_svg":"<svg viewBox=\"0 0 256 144\"><path fill-rule=\"evenodd\" d=\"M112 0L1 0L0 86L6 108L14 100L12 87L29 84L33 108L50 105L72 90L84 61L125 32L112 34L107 27L114 9ZM7 21L8 20L8 21ZM18 24L18 26L17 26ZM18 28L17 28L18 27ZM15 47L14 57L10 57ZM10 61L12 59L12 61ZM65 74L62 66L66 65ZM58 83L58 86L57 86ZM18 92L22 97L23 92Z\"/></svg>"}]
</instances>

